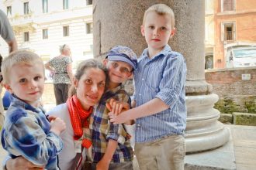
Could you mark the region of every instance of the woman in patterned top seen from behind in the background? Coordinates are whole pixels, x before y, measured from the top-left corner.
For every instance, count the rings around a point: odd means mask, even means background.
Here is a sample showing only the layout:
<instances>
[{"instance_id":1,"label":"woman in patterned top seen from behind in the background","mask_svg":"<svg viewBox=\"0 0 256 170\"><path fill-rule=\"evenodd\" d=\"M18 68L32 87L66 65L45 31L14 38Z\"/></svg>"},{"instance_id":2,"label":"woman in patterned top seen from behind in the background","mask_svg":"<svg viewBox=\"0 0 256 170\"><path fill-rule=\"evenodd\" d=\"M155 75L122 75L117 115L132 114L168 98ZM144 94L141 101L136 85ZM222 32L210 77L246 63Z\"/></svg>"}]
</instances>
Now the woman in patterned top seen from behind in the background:
<instances>
[{"instance_id":1,"label":"woman in patterned top seen from behind in the background","mask_svg":"<svg viewBox=\"0 0 256 170\"><path fill-rule=\"evenodd\" d=\"M60 56L50 59L45 68L54 73L54 94L56 105L64 104L68 97L68 88L73 79L71 49L67 44L60 46Z\"/></svg>"}]
</instances>

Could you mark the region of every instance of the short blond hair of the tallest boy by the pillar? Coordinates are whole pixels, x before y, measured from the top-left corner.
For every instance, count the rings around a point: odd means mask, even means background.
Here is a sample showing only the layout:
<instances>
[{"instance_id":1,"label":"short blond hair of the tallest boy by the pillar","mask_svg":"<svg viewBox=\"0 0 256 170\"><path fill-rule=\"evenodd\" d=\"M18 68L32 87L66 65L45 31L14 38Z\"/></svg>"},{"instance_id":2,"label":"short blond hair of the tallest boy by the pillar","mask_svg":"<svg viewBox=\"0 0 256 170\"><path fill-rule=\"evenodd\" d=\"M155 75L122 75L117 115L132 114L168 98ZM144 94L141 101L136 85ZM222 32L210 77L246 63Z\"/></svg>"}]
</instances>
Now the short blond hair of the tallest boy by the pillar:
<instances>
[{"instance_id":1,"label":"short blond hair of the tallest boy by the pillar","mask_svg":"<svg viewBox=\"0 0 256 170\"><path fill-rule=\"evenodd\" d=\"M147 8L146 12L144 13L143 25L145 23L145 19L148 12L157 12L158 15L169 15L171 17L171 29L175 28L175 13L168 5L156 4L150 6L150 8Z\"/></svg>"}]
</instances>

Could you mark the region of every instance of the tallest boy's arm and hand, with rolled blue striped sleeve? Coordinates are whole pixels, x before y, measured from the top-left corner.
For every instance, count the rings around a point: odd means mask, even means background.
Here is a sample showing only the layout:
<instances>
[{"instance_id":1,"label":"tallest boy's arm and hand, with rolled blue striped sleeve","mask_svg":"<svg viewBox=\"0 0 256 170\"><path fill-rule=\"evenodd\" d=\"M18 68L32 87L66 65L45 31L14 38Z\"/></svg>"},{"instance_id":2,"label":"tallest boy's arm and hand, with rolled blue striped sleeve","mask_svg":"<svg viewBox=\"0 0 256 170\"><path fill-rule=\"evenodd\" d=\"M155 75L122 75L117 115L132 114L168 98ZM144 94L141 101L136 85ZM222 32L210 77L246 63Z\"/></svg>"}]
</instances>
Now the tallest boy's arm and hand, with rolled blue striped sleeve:
<instances>
[{"instance_id":1,"label":"tallest boy's arm and hand, with rolled blue striped sleeve","mask_svg":"<svg viewBox=\"0 0 256 170\"><path fill-rule=\"evenodd\" d=\"M158 85L159 91L152 100L147 103L126 110L118 116L110 113L110 121L114 124L122 124L130 119L146 117L152 114L157 114L176 104L178 98L185 88L186 66L182 55L177 55L168 59L161 82ZM145 92L148 93L148 92Z\"/></svg>"}]
</instances>

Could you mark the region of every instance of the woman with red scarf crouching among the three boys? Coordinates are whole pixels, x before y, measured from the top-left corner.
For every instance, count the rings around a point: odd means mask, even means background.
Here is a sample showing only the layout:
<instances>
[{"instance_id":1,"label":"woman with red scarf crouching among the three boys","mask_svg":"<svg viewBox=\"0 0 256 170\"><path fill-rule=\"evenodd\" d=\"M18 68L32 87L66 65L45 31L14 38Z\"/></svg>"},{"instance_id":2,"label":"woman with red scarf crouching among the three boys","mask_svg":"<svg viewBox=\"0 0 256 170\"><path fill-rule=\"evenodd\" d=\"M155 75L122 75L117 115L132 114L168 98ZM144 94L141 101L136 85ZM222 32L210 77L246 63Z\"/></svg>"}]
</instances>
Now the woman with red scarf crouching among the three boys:
<instances>
[{"instance_id":1,"label":"woman with red scarf crouching among the three boys","mask_svg":"<svg viewBox=\"0 0 256 170\"><path fill-rule=\"evenodd\" d=\"M106 69L95 59L88 59L80 63L74 75L74 81L70 89L71 97L65 104L60 104L50 110L50 118L61 117L67 125L60 137L64 141L64 149L61 151L59 166L61 170L81 169L80 163L84 161L85 150L92 145L86 139L88 129L88 116L92 113L92 107L99 102L105 90ZM81 147L81 145L83 147ZM22 163L21 163L22 162ZM9 170L36 167L24 158L9 160L6 168ZM24 165L24 166L22 166ZM78 165L78 168L76 168ZM15 167L16 166L16 167ZM22 167L21 167L22 166ZM34 168L40 169L40 168Z\"/></svg>"}]
</instances>

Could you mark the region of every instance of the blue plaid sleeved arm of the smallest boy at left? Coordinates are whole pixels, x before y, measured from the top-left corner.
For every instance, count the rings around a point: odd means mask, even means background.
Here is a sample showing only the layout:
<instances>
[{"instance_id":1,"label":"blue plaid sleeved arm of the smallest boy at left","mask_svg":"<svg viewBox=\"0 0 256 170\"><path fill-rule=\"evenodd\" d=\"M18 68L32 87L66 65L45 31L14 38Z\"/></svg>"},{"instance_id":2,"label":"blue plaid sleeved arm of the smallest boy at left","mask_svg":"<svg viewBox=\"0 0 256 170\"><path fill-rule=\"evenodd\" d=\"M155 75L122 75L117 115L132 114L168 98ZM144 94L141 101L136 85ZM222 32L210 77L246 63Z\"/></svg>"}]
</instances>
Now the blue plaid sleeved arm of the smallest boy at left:
<instances>
[{"instance_id":1,"label":"blue plaid sleeved arm of the smallest boy at left","mask_svg":"<svg viewBox=\"0 0 256 170\"><path fill-rule=\"evenodd\" d=\"M47 165L63 148L61 138L51 131L46 134L36 117L20 117L2 132L3 140L3 148L9 153L22 155L35 165Z\"/></svg>"}]
</instances>

